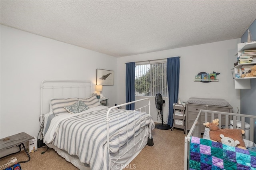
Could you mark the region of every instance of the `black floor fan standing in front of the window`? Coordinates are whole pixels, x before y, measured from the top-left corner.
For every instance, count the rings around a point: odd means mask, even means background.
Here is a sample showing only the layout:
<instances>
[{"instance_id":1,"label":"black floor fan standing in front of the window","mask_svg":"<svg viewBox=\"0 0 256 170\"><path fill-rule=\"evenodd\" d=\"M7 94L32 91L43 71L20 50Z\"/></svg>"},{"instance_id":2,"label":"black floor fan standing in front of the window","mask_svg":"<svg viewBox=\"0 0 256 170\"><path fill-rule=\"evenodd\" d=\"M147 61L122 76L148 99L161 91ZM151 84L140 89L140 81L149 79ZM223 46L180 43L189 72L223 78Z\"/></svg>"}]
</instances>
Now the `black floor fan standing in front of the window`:
<instances>
[{"instance_id":1,"label":"black floor fan standing in front of the window","mask_svg":"<svg viewBox=\"0 0 256 170\"><path fill-rule=\"evenodd\" d=\"M160 93L156 94L156 109L160 111L160 115L161 115L161 119L162 119L162 124L158 123L155 125L156 128L158 129L162 129L162 130L168 130L171 129L171 127L169 125L164 124L164 120L163 120L163 103L165 103L165 101L162 98L162 95ZM158 112L159 114L159 112Z\"/></svg>"}]
</instances>

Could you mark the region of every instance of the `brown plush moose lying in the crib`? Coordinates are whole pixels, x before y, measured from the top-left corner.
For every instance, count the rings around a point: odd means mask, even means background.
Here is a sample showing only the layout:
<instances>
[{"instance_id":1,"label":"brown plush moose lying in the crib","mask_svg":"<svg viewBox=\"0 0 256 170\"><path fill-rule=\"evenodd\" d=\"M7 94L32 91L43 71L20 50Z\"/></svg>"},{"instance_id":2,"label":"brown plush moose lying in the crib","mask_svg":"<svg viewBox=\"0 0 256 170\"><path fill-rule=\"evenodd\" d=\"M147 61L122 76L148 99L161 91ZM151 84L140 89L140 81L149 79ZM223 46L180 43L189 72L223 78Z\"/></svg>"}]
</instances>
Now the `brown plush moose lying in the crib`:
<instances>
[{"instance_id":1,"label":"brown plush moose lying in the crib","mask_svg":"<svg viewBox=\"0 0 256 170\"><path fill-rule=\"evenodd\" d=\"M218 127L219 125L218 121L219 121L218 119L214 119L212 123L206 122L203 124L205 127L208 127L210 129L209 131L210 139L214 142L222 142L222 138L220 137L220 134L222 134L223 136L231 138L234 141L238 140L239 144L237 144L237 147L246 149L243 136L242 136L242 134L244 134L245 131L242 129L230 129L230 128L220 129Z\"/></svg>"}]
</instances>

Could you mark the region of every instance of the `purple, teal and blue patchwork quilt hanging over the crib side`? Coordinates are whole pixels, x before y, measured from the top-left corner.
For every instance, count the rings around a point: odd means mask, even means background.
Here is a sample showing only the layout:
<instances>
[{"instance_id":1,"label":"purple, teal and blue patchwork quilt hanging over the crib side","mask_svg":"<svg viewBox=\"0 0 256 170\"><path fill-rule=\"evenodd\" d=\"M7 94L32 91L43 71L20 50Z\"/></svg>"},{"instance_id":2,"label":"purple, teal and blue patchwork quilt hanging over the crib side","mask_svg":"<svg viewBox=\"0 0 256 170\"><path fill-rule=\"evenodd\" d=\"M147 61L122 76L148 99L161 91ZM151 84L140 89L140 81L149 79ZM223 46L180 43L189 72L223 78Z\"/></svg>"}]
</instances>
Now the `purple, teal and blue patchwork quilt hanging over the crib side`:
<instances>
[{"instance_id":1,"label":"purple, teal and blue patchwork quilt hanging over the crib side","mask_svg":"<svg viewBox=\"0 0 256 170\"><path fill-rule=\"evenodd\" d=\"M190 170L256 170L256 152L193 137Z\"/></svg>"}]
</instances>

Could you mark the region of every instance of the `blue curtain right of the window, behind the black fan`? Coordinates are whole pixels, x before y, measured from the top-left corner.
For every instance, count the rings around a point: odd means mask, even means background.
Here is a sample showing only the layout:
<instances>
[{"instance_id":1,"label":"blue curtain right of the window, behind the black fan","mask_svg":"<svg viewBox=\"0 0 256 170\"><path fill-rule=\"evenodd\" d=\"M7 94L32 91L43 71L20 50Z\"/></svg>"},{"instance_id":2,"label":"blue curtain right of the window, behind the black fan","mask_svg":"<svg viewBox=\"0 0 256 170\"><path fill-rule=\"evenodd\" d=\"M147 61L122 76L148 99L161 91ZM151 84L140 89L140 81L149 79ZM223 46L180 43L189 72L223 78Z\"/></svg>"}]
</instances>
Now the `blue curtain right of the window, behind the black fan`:
<instances>
[{"instance_id":1,"label":"blue curtain right of the window, behind the black fan","mask_svg":"<svg viewBox=\"0 0 256 170\"><path fill-rule=\"evenodd\" d=\"M173 103L178 102L180 82L180 57L167 58L167 84L169 95L169 116L167 124L173 124Z\"/></svg>"}]
</instances>

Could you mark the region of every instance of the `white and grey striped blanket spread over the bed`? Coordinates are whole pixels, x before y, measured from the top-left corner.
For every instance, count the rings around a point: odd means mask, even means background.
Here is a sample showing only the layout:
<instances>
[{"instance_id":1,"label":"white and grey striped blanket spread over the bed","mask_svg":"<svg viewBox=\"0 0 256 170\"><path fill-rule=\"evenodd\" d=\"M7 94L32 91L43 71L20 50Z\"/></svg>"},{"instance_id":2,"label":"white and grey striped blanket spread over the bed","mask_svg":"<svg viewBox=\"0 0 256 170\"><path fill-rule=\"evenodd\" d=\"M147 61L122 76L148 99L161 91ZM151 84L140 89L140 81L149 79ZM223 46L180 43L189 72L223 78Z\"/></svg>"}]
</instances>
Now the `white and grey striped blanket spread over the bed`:
<instances>
[{"instance_id":1,"label":"white and grey striped blanket spread over the bed","mask_svg":"<svg viewBox=\"0 0 256 170\"><path fill-rule=\"evenodd\" d=\"M76 155L93 170L110 169L110 154L118 152L127 141L140 134L142 128L154 127L145 112L112 109L109 114L110 153L107 149L106 113L109 107L98 106L82 113L58 115L44 135L46 144ZM128 113L128 114L126 114ZM119 115L119 116L118 116ZM118 121L119 120L119 121ZM141 136L145 137L145 136ZM148 136L146 136L148 137Z\"/></svg>"}]
</instances>

